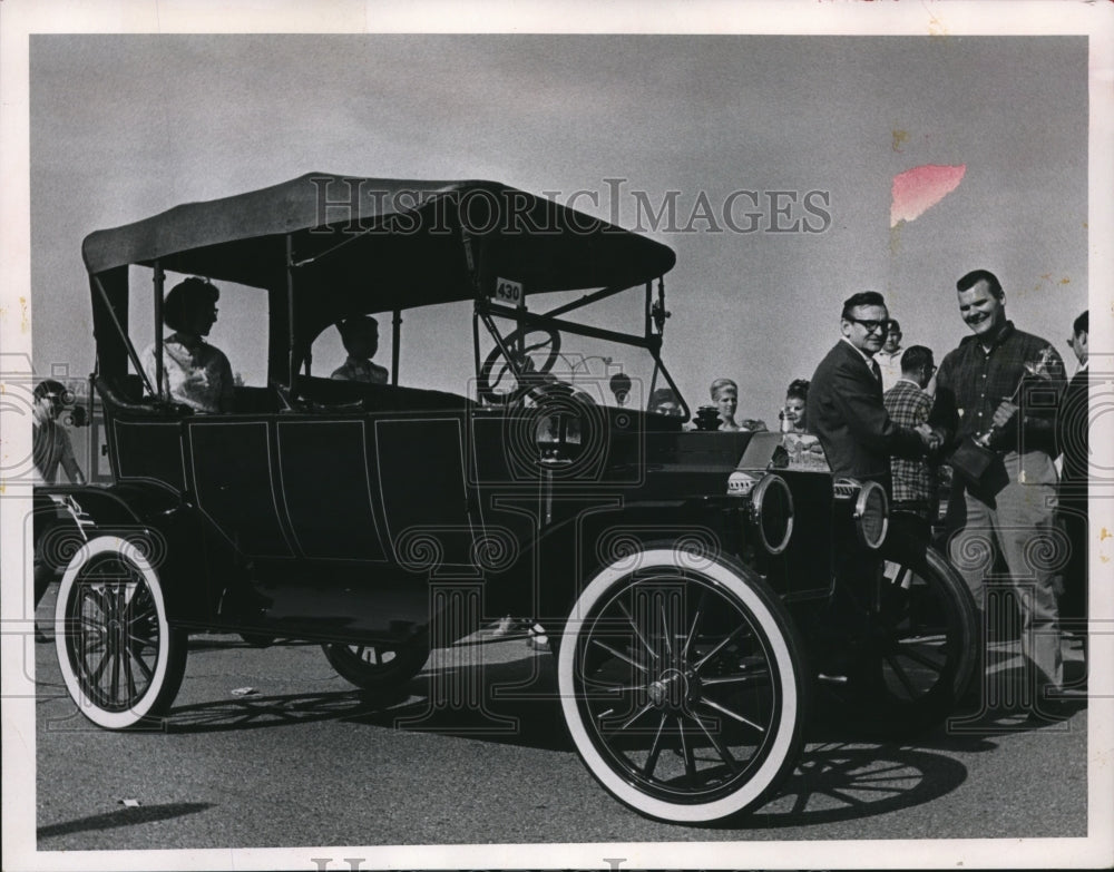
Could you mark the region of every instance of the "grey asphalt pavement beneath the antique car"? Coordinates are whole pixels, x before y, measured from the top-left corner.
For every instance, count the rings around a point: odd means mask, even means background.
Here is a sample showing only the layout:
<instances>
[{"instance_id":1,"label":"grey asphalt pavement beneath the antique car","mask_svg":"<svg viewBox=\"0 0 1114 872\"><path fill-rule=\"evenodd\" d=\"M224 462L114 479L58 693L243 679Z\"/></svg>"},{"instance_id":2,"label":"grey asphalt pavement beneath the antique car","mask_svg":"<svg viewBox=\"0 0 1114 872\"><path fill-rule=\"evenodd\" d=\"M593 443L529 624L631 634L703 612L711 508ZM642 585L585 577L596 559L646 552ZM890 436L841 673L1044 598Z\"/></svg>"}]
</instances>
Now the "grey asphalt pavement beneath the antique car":
<instances>
[{"instance_id":1,"label":"grey asphalt pavement beneath the antique car","mask_svg":"<svg viewBox=\"0 0 1114 872\"><path fill-rule=\"evenodd\" d=\"M596 784L565 734L551 655L521 638L473 640L485 644L434 650L383 705L316 645L195 636L163 729L111 733L66 696L53 645L28 639L39 850L1087 834L1082 702L1059 723L999 711L883 743L821 706L776 796L742 823L678 826ZM988 668L1004 675L1016 650L998 648ZM1077 670L1078 647L1067 654ZM462 684L438 684L446 675Z\"/></svg>"}]
</instances>

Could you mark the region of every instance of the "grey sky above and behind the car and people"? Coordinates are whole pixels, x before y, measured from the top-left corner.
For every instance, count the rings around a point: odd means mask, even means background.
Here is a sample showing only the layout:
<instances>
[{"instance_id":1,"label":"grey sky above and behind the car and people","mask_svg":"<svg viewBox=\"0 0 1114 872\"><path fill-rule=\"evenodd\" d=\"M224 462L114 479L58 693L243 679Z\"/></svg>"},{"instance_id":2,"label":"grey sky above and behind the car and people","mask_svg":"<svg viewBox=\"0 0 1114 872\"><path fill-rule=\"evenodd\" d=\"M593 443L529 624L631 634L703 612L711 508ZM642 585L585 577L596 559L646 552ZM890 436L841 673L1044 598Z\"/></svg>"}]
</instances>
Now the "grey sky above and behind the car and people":
<instances>
[{"instance_id":1,"label":"grey sky above and behind the car and people","mask_svg":"<svg viewBox=\"0 0 1114 872\"><path fill-rule=\"evenodd\" d=\"M86 234L311 170L490 178L648 232L677 254L671 372L694 408L735 379L743 418L776 420L858 291L938 360L969 270L1064 354L1087 306L1084 37L32 36L30 155L40 372L92 366ZM961 179L891 227L927 165ZM211 340L250 370L262 330L221 307ZM421 326L411 380L467 390L467 314Z\"/></svg>"}]
</instances>

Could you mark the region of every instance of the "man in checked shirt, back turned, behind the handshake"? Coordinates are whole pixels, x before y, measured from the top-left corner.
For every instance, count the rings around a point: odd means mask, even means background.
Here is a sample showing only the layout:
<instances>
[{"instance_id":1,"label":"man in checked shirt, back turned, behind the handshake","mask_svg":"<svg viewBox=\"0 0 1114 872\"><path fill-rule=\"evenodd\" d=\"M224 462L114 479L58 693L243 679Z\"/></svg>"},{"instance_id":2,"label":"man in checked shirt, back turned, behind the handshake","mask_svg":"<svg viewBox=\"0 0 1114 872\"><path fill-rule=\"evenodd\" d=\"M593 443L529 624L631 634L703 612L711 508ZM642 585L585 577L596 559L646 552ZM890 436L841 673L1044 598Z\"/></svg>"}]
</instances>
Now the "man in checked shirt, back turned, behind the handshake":
<instances>
[{"instance_id":1,"label":"man in checked shirt, back turned, behind the handshake","mask_svg":"<svg viewBox=\"0 0 1114 872\"><path fill-rule=\"evenodd\" d=\"M877 356L877 355L876 355ZM916 428L928 422L932 411L932 398L925 390L936 365L932 352L924 345L906 349L901 355L901 378L886 392L886 411L896 424ZM918 531L925 541L931 535L931 523L939 508L939 477L936 464L920 458L906 460L890 458L893 476L893 508L908 511L921 518Z\"/></svg>"}]
</instances>

